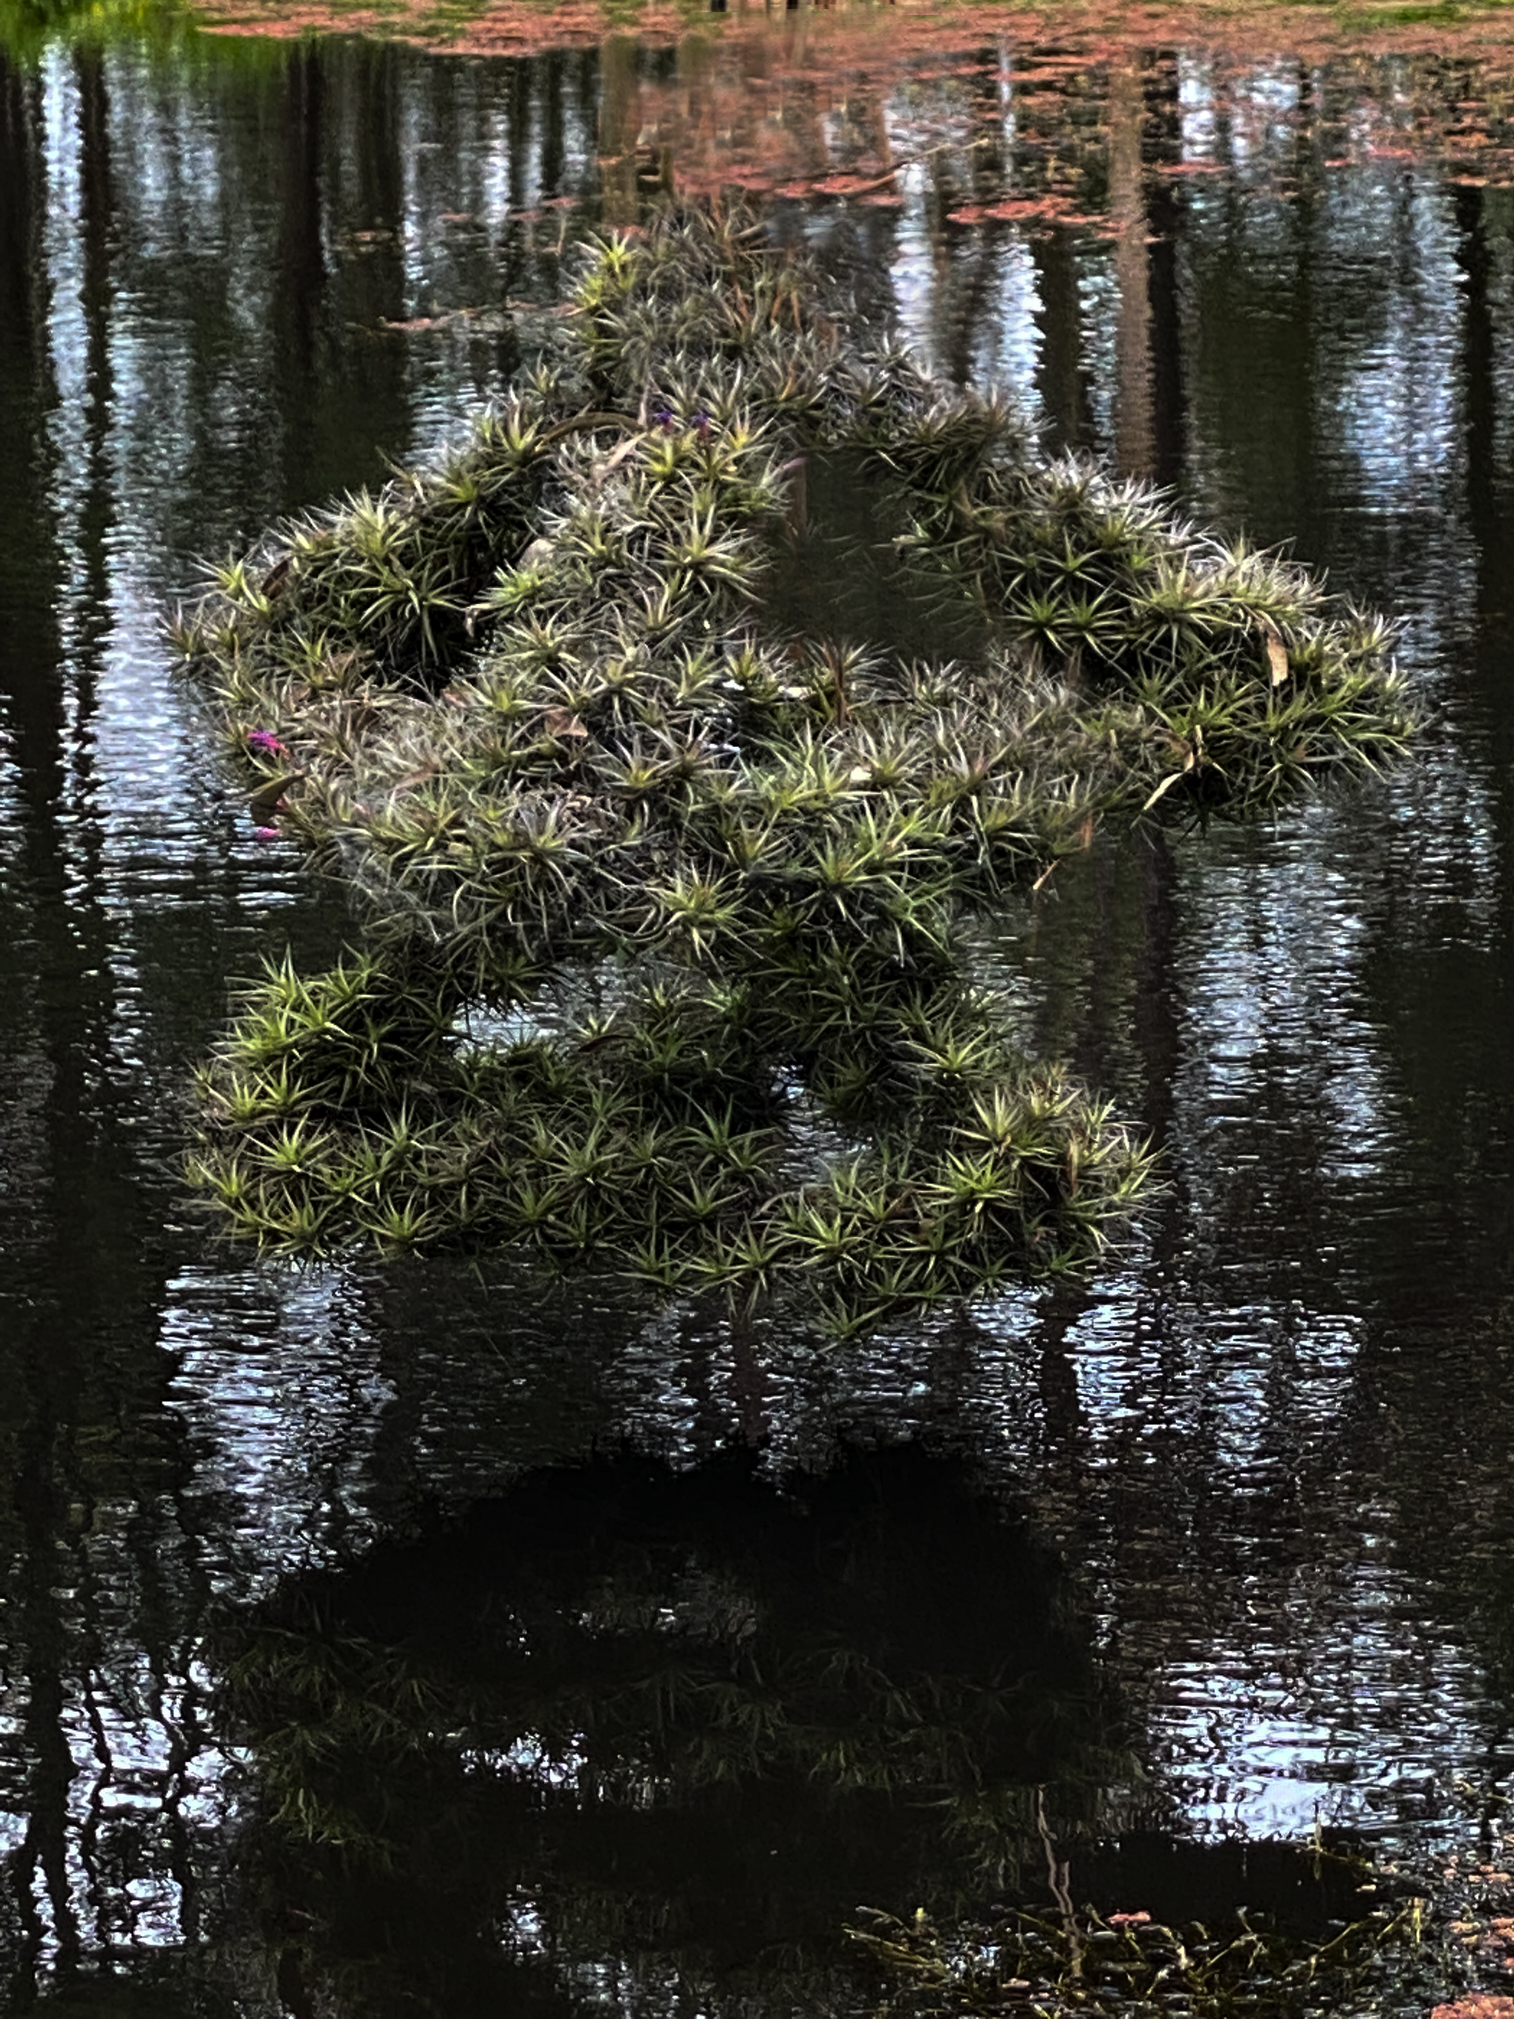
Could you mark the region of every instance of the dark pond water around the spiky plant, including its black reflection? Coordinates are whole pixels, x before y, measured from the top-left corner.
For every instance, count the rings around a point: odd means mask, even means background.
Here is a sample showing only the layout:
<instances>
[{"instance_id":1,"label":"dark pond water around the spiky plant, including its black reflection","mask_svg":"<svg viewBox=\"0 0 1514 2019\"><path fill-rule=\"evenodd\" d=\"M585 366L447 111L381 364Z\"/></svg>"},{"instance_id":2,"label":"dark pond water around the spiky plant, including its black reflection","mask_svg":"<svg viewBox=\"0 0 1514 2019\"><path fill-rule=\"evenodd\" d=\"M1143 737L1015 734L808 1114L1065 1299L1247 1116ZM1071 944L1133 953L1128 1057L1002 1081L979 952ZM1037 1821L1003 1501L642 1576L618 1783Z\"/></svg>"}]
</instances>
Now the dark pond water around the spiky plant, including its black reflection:
<instances>
[{"instance_id":1,"label":"dark pond water around the spiky plant, including its black reflection","mask_svg":"<svg viewBox=\"0 0 1514 2019\"><path fill-rule=\"evenodd\" d=\"M1106 1908L1286 1904L1260 1847L1316 1823L1496 1841L1514 50L923 20L503 10L412 46L0 14L16 2009L852 2009L858 1902L1032 1888L1044 1827ZM945 374L1294 541L1405 620L1431 711L1395 777L1098 850L985 923L1028 1046L1151 1129L1167 1187L1096 1280L860 1349L509 1260L279 1274L180 1181L232 983L345 925L254 840L164 612L200 555L456 434L575 238L668 184L757 192ZM388 1878L264 1843L289 1730L228 1724L224 1682L268 1635L365 1637L335 1694L291 1690ZM402 1643L430 1738L380 1748L386 1795L343 1706ZM739 1678L676 1759L656 1648L698 1702ZM822 1650L931 1684L955 1765L840 1759L892 1712Z\"/></svg>"}]
</instances>

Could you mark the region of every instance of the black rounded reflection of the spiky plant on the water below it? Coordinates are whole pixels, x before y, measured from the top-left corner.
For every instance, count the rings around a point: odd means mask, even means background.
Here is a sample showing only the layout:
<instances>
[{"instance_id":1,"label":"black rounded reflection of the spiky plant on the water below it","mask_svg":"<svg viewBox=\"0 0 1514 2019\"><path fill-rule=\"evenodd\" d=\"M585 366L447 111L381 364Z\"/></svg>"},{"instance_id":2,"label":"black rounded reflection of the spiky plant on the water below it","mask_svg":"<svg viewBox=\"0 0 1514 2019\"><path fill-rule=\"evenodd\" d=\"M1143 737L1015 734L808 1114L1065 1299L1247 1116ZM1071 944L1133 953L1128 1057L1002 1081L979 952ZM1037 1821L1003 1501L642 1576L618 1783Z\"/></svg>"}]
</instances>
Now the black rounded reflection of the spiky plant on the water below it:
<instances>
[{"instance_id":1,"label":"black rounded reflection of the spiky plant on the water below it","mask_svg":"<svg viewBox=\"0 0 1514 2019\"><path fill-rule=\"evenodd\" d=\"M741 1452L531 1474L220 1662L271 1912L351 2011L567 2011L585 1971L812 2007L858 1900L1015 1888L1038 1789L1066 1847L1128 1769L1054 1563L918 1448L787 1494Z\"/></svg>"}]
</instances>

